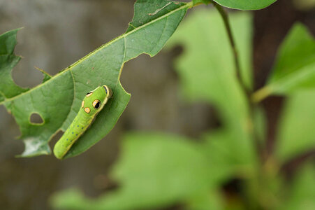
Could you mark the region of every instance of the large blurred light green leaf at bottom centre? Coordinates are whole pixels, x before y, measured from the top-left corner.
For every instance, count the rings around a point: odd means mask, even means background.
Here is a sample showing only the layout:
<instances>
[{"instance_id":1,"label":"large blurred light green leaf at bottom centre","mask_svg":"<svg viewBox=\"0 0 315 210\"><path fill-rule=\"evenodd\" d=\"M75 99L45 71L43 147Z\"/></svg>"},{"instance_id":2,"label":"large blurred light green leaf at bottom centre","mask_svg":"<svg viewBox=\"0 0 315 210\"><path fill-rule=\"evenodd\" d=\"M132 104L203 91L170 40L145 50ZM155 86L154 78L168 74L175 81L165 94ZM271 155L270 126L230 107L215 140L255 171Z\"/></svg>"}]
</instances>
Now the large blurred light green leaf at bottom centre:
<instances>
[{"instance_id":1,"label":"large blurred light green leaf at bottom centre","mask_svg":"<svg viewBox=\"0 0 315 210\"><path fill-rule=\"evenodd\" d=\"M94 200L66 191L57 194L52 204L57 209L112 210L154 209L185 201L196 205L193 201L204 200L214 186L202 146L170 134L127 134L112 176L119 181L118 190Z\"/></svg>"}]
</instances>

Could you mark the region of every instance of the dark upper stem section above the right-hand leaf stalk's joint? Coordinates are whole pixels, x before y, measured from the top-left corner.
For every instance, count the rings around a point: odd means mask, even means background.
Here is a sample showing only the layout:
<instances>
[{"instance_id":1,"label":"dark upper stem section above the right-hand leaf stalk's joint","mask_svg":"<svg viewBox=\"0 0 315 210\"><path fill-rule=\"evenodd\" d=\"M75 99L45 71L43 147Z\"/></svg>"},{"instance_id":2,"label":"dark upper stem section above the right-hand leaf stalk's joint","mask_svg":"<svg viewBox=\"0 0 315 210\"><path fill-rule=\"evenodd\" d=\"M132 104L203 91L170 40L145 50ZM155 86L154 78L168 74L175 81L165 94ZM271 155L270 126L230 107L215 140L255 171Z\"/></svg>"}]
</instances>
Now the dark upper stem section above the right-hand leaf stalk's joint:
<instances>
[{"instance_id":1,"label":"dark upper stem section above the right-hand leaf stalk's joint","mask_svg":"<svg viewBox=\"0 0 315 210\"><path fill-rule=\"evenodd\" d=\"M241 76L242 73L241 73L241 69L240 69L240 59L238 57L237 48L236 48L235 41L233 38L232 30L230 27L230 21L228 20L228 13L226 13L226 10L224 10L224 8L221 5L219 5L219 3L212 1L212 4L215 8L217 8L218 12L220 13L220 15L224 21L224 27L226 27L226 32L228 33L228 40L230 42L230 47L232 48L232 51L233 51L233 57L234 57L234 64L235 64L237 79L240 81L240 85L242 86L244 91L247 94L249 94L247 87L244 84L244 80L242 80L242 76Z\"/></svg>"}]
</instances>

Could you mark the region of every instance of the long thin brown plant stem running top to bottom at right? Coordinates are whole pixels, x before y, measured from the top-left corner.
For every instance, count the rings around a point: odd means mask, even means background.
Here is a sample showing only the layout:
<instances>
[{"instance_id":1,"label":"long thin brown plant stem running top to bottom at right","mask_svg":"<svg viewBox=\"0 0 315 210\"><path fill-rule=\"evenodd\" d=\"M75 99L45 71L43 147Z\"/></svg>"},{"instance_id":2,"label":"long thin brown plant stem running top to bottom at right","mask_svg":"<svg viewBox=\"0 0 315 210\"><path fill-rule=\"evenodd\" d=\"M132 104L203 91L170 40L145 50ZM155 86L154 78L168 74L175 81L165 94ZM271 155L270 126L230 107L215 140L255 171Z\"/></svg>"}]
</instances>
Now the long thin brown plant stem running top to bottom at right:
<instances>
[{"instance_id":1,"label":"long thin brown plant stem running top to bottom at right","mask_svg":"<svg viewBox=\"0 0 315 210\"><path fill-rule=\"evenodd\" d=\"M224 8L217 2L214 2L213 0L211 0L211 2L220 13L221 18L224 20L224 26L228 34L230 47L233 50L237 80L240 83L240 87L244 91L244 94L246 94L247 103L249 106L249 123L251 126L247 132L254 140L254 144L256 144L258 154L257 158L259 159L259 152L261 151L261 148L264 148L264 146L261 143L261 140L263 139L260 139L257 129L254 125L255 111L259 108L258 102L261 102L270 95L272 87L266 86L253 93L250 87L247 87L246 83L244 83L240 69L240 58L237 53L235 40L233 38L230 22L228 20L228 13L226 13ZM274 162L272 157L270 157L267 161L261 160L261 162L258 162L256 174L247 179L248 186L247 190L245 190L244 196L245 199L247 199L245 203L248 205L249 209L274 209L273 207L277 204L277 199L270 197L270 190L272 190L270 188L270 184L272 184L270 180L274 180L274 177L277 176L277 172L279 170L278 167L279 166L277 165L277 162Z\"/></svg>"}]
</instances>

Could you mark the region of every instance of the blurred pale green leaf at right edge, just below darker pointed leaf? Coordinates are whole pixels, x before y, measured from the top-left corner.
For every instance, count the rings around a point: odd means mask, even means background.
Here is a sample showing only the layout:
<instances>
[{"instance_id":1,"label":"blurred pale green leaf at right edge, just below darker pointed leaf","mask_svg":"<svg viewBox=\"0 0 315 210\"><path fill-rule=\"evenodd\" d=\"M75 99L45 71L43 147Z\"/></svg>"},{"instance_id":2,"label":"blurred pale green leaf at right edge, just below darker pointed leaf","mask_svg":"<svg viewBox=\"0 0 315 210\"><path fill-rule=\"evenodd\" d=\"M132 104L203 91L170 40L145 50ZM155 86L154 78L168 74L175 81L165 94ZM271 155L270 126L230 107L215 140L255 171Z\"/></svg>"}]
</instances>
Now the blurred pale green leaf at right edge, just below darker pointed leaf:
<instances>
[{"instance_id":1,"label":"blurred pale green leaf at right edge, just below darker pointed leaf","mask_svg":"<svg viewBox=\"0 0 315 210\"><path fill-rule=\"evenodd\" d=\"M315 90L286 101L279 125L276 154L282 162L315 148Z\"/></svg>"}]
</instances>

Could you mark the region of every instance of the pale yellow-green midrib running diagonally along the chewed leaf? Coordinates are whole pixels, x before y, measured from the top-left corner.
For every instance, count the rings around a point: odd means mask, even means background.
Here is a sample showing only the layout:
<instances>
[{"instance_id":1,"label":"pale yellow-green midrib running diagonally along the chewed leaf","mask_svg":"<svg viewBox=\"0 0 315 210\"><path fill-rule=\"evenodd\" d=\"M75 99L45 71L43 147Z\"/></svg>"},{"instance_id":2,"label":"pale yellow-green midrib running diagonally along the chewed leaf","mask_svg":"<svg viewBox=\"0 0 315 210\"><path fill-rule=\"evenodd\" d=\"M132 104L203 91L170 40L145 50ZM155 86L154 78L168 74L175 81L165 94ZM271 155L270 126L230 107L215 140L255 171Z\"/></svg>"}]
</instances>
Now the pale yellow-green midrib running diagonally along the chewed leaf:
<instances>
[{"instance_id":1,"label":"pale yellow-green midrib running diagonally along the chewed leaf","mask_svg":"<svg viewBox=\"0 0 315 210\"><path fill-rule=\"evenodd\" d=\"M175 10L170 11L170 13L166 13L165 15L162 15L162 16L160 16L159 18L156 18L156 19L154 19L154 20L152 20L152 21L150 21L150 22L145 23L144 25L141 25L140 27L137 27L137 28L133 29L132 31L129 31L128 33L122 34L121 36L118 36L117 38L112 39L112 40L109 41L108 43L105 43L105 44L101 45L101 46L100 46L99 48L97 48L96 50L94 50L94 51L92 51L92 52L89 52L89 54L85 55L85 57L82 57L82 58L79 59L77 62L71 64L71 65L68 66L68 67L66 67L66 69L64 69L64 71L61 71L60 73L57 73L56 75L52 76L52 78L50 78L50 80L47 80L47 82L41 83L41 84L37 85L36 87L31 88L31 89L28 90L27 92L22 92L21 94L18 94L18 95L16 95L15 97L12 97L12 98L9 98L9 99L6 99L6 98L5 98L2 102L0 102L0 105L1 105L1 104L4 104L4 103L6 103L6 102L13 101L13 100L17 99L18 97L22 97L23 94L27 94L27 93L29 93L29 92L31 92L31 91L33 91L33 90L36 90L37 88L40 88L40 87L42 87L42 86L44 86L44 85L47 85L47 83L52 82L52 80L54 80L54 79L57 78L58 76L61 76L61 74L66 73L66 72L69 71L69 70L71 71L71 69L72 69L74 66L77 66L78 64L80 64L80 62L82 62L82 61L84 61L85 59L89 58L91 55L96 54L96 52L102 50L103 48L107 47L108 45L111 45L112 43L115 43L115 41L118 41L118 40L121 39L121 38L125 38L126 36L129 36L129 34L133 34L133 32L138 31L138 30L140 30L140 29L146 27L147 25L151 25L151 24L153 24L154 22L157 22L157 21L159 21L159 20L161 20L161 19L163 19L163 18L166 18L166 17L168 17L169 15L172 15L173 13L175 13L175 12L177 12L177 11L179 11L179 10L182 10L182 9L184 9L184 8L191 8L192 6L193 6L193 2L191 1L191 2L189 2L189 3L184 4L184 6L180 6L179 8L176 8ZM124 64L124 63L123 63L123 64ZM122 71L122 68L120 69L119 74L120 74L121 71Z\"/></svg>"}]
</instances>

